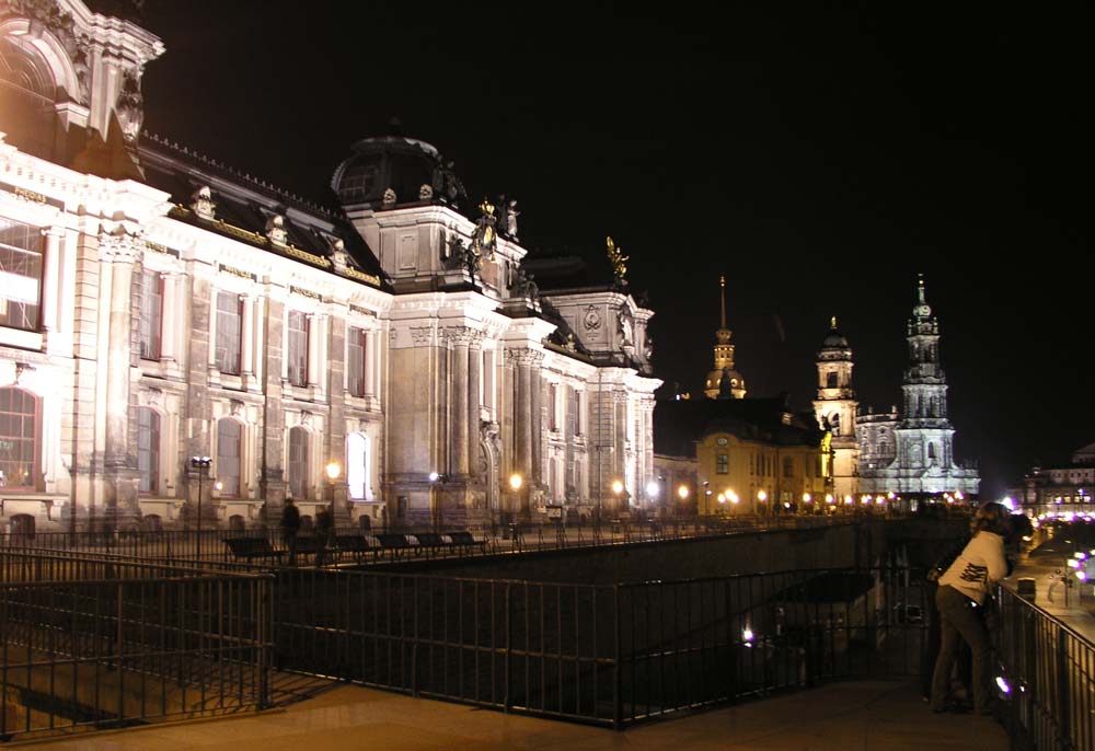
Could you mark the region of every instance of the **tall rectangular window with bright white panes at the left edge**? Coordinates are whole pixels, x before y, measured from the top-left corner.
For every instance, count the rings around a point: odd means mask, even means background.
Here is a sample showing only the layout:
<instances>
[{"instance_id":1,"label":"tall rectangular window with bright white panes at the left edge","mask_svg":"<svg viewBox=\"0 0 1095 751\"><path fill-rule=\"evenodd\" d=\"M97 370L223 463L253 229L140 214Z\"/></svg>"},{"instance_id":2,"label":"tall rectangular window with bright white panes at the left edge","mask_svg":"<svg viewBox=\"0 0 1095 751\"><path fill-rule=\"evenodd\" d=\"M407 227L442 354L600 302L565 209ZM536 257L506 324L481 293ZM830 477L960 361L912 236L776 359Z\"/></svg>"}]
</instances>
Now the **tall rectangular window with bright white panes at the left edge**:
<instances>
[{"instance_id":1,"label":"tall rectangular window with bright white panes at the left edge","mask_svg":"<svg viewBox=\"0 0 1095 751\"><path fill-rule=\"evenodd\" d=\"M42 231L0 217L0 326L38 331Z\"/></svg>"}]
</instances>

